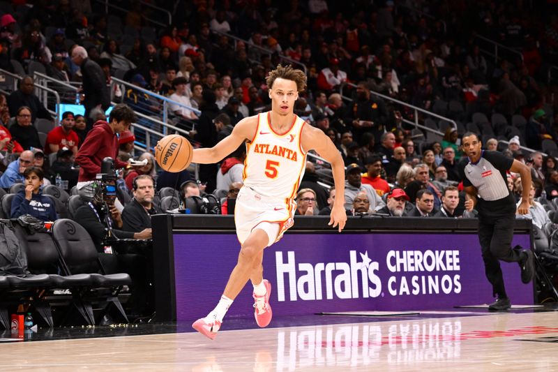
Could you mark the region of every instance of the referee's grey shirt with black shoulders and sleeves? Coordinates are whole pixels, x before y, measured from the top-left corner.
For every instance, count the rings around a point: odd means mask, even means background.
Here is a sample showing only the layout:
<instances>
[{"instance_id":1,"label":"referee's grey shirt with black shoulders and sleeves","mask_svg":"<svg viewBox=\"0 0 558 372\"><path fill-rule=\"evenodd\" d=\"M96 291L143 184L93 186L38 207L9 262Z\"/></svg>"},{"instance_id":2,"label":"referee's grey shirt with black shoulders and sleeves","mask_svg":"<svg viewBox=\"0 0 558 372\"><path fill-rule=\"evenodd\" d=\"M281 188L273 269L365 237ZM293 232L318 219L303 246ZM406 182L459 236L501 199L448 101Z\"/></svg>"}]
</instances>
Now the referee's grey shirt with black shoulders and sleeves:
<instances>
[{"instance_id":1,"label":"referee's grey shirt with black shoulders and sleeves","mask_svg":"<svg viewBox=\"0 0 558 372\"><path fill-rule=\"evenodd\" d=\"M508 158L497 151L483 150L481 158L476 163L466 159L460 164L463 186L475 186L478 196L488 202L510 197L513 199L506 181L506 172L512 164L513 158Z\"/></svg>"}]
</instances>

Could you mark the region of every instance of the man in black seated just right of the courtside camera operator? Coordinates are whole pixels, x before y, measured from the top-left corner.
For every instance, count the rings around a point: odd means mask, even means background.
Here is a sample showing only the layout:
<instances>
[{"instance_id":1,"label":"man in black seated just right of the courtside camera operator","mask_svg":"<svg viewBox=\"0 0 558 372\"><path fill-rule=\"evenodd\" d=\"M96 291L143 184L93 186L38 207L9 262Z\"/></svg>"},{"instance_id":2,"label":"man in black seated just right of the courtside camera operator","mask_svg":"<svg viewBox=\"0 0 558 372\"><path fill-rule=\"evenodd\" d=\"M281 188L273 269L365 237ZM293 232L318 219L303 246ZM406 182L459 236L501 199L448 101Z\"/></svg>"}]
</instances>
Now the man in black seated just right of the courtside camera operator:
<instances>
[{"instance_id":1,"label":"man in black seated just right of the courtside camera operator","mask_svg":"<svg viewBox=\"0 0 558 372\"><path fill-rule=\"evenodd\" d=\"M155 204L155 188L153 178L149 174L141 174L133 181L134 198L122 211L123 230L141 232L151 229L151 215L162 213Z\"/></svg>"}]
</instances>

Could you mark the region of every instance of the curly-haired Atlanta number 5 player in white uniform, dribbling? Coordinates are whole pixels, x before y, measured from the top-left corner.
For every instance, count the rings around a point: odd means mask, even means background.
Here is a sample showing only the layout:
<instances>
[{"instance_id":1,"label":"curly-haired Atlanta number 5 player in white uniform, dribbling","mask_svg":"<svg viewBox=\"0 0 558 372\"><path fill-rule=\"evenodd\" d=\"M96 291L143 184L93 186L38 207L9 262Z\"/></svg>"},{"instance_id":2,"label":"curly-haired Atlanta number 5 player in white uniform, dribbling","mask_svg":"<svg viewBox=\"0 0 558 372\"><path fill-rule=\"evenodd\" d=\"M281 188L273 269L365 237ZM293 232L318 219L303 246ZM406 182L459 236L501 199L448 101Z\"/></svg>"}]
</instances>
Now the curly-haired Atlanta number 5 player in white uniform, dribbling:
<instances>
[{"instance_id":1,"label":"curly-haired Atlanta number 5 player in white uniform, dribbling","mask_svg":"<svg viewBox=\"0 0 558 372\"><path fill-rule=\"evenodd\" d=\"M267 86L271 111L242 119L216 146L194 150L193 163L216 163L246 141L244 185L234 210L236 235L241 243L239 259L216 308L193 323L194 329L211 339L248 279L254 287L257 325L266 327L271 322L271 283L263 278L264 248L281 239L294 223L294 198L308 151L314 149L331 163L335 190L339 195L345 193L345 168L340 152L323 131L306 125L293 112L299 92L306 88L306 75L291 66L279 65L269 73ZM347 221L343 202L343 198L335 199L329 221L339 232Z\"/></svg>"}]
</instances>

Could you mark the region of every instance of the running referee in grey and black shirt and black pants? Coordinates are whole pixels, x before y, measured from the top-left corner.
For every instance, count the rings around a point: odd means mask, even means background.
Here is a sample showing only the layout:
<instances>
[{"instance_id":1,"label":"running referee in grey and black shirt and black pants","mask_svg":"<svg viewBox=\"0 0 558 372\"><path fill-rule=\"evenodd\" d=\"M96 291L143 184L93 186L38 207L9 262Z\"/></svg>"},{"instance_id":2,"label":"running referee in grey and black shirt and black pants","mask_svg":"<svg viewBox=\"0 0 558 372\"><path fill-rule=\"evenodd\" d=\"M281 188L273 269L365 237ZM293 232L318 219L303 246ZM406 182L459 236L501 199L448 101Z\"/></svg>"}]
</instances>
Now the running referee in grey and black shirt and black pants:
<instances>
[{"instance_id":1,"label":"running referee in grey and black shirt and black pants","mask_svg":"<svg viewBox=\"0 0 558 372\"><path fill-rule=\"evenodd\" d=\"M529 212L531 172L523 163L508 158L497 151L481 149L481 140L475 133L462 137L462 148L469 157L460 163L463 186L467 193L465 208L471 211L476 204L478 211L478 240L481 242L485 274L492 284L492 295L497 296L488 306L490 311L507 310L510 299L504 288L504 278L498 260L518 262L521 281L529 283L534 275L533 253L521 246L511 248L515 223L515 199L506 184L506 172L521 175L523 197L518 214Z\"/></svg>"}]
</instances>

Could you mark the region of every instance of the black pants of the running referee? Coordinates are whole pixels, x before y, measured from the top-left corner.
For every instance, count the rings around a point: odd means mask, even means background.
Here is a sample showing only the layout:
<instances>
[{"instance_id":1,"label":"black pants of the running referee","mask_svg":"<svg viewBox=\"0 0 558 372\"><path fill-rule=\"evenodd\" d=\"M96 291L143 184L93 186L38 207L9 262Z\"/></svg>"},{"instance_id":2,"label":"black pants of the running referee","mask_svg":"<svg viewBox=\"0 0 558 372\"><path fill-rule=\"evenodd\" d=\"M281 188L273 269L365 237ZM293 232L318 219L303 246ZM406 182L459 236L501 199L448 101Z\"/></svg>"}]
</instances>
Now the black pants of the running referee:
<instances>
[{"instance_id":1,"label":"black pants of the running referee","mask_svg":"<svg viewBox=\"0 0 558 372\"><path fill-rule=\"evenodd\" d=\"M492 296L508 297L504 287L502 268L499 260L504 262L520 262L521 253L511 248L513 225L515 223L515 205L506 207L508 210L494 211L489 208L479 210L478 240L485 267L485 274L492 284Z\"/></svg>"}]
</instances>

